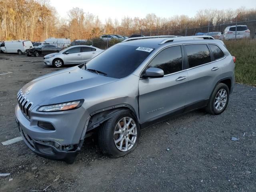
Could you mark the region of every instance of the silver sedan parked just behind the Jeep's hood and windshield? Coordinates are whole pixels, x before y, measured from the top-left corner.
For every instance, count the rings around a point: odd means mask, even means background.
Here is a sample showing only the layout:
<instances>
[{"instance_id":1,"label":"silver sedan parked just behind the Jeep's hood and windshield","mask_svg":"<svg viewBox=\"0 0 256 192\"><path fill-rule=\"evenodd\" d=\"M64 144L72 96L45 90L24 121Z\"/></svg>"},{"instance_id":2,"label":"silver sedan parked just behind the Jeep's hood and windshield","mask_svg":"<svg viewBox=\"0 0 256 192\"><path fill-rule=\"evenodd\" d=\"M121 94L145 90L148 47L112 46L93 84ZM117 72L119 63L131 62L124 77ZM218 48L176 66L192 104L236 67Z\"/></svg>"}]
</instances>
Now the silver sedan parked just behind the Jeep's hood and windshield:
<instances>
[{"instance_id":1,"label":"silver sedan parked just behind the Jeep's hood and windshield","mask_svg":"<svg viewBox=\"0 0 256 192\"><path fill-rule=\"evenodd\" d=\"M77 65L94 58L102 51L103 50L93 46L71 46L58 53L52 53L44 56L44 64L54 67L62 67L63 65L69 64Z\"/></svg>"}]
</instances>

